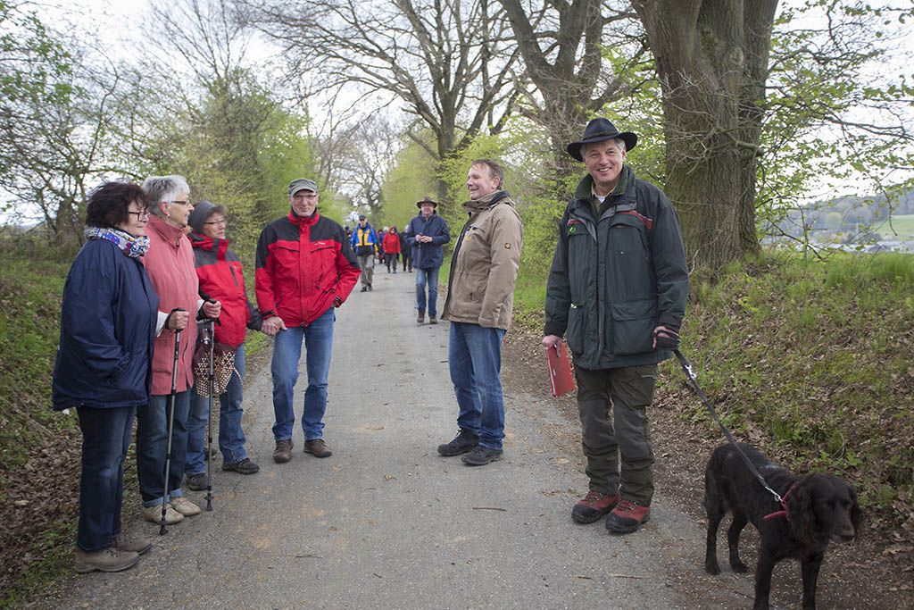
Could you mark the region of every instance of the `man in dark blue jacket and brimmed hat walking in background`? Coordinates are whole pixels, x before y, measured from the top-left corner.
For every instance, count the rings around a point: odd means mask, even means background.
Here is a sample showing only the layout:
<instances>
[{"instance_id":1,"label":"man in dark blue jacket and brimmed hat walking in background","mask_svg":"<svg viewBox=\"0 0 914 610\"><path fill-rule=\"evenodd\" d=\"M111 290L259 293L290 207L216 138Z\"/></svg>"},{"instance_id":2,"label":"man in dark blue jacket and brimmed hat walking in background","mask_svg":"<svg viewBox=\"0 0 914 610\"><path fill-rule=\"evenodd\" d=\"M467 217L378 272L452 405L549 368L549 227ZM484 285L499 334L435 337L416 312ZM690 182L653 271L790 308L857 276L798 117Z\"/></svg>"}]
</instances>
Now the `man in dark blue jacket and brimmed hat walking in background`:
<instances>
[{"instance_id":1,"label":"man in dark blue jacket and brimmed hat walking in background","mask_svg":"<svg viewBox=\"0 0 914 610\"><path fill-rule=\"evenodd\" d=\"M412 253L412 266L416 270L416 309L419 315L416 322L425 322L426 303L429 310L429 324L438 324L438 270L444 261L442 246L451 241L448 223L438 215L435 208L438 202L426 197L416 202L420 213L409 221L405 232L409 233L406 242ZM428 286L429 296L426 301L425 289Z\"/></svg>"}]
</instances>

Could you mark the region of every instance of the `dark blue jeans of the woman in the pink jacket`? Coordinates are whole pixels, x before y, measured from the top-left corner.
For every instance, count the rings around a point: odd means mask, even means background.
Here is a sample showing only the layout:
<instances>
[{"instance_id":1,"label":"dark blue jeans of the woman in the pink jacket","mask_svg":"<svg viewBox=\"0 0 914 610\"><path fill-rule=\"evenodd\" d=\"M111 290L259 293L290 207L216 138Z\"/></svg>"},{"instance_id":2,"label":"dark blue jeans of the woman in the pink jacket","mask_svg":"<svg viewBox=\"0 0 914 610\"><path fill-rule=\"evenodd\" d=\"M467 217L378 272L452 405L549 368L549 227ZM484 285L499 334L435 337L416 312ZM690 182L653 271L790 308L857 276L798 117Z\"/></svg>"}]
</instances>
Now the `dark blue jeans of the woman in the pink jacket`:
<instances>
[{"instance_id":1,"label":"dark blue jeans of the woman in the pink jacket","mask_svg":"<svg viewBox=\"0 0 914 610\"><path fill-rule=\"evenodd\" d=\"M149 397L149 404L136 412L136 476L140 479L143 507L162 504L165 496L165 453L168 451L169 394ZM187 413L190 390L175 394L175 428L172 433L171 464L168 469L168 497L184 495L181 479L187 455Z\"/></svg>"}]
</instances>

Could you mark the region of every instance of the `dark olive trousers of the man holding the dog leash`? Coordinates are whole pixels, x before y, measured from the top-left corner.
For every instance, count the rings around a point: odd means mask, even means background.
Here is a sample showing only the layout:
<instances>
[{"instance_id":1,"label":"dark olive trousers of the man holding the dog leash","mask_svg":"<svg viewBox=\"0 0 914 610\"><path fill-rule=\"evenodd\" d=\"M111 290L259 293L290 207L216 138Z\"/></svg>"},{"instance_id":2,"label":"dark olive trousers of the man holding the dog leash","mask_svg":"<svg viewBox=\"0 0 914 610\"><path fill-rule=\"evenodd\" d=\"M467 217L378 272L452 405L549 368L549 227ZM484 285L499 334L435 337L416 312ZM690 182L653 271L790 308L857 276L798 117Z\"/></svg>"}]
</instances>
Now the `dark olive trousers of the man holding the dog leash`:
<instances>
[{"instance_id":1,"label":"dark olive trousers of the man holding the dog leash","mask_svg":"<svg viewBox=\"0 0 914 610\"><path fill-rule=\"evenodd\" d=\"M590 370L575 367L581 445L590 489L642 506L654 497L654 449L647 407L657 365ZM621 466L621 468L620 468Z\"/></svg>"}]
</instances>

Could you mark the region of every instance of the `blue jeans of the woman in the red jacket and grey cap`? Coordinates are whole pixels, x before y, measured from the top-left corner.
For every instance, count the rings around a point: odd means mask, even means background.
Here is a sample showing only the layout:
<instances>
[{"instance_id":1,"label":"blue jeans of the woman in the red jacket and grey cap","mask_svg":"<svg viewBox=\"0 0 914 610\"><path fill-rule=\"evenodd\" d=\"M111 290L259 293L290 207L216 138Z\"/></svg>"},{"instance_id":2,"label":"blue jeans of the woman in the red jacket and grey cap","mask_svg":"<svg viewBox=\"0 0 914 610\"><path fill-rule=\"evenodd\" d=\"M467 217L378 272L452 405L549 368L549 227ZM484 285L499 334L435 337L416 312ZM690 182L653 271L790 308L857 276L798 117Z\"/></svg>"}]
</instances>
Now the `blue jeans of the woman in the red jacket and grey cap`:
<instances>
[{"instance_id":1,"label":"blue jeans of the woman in the red jacket and grey cap","mask_svg":"<svg viewBox=\"0 0 914 610\"><path fill-rule=\"evenodd\" d=\"M235 352L235 372L228 381L228 388L219 397L219 451L222 461L240 462L248 456L244 450L244 431L241 430L241 401L244 397L244 345ZM213 400L215 402L216 399ZM209 399L192 392L190 415L187 417L187 475L206 472L204 455L207 451L207 413Z\"/></svg>"}]
</instances>

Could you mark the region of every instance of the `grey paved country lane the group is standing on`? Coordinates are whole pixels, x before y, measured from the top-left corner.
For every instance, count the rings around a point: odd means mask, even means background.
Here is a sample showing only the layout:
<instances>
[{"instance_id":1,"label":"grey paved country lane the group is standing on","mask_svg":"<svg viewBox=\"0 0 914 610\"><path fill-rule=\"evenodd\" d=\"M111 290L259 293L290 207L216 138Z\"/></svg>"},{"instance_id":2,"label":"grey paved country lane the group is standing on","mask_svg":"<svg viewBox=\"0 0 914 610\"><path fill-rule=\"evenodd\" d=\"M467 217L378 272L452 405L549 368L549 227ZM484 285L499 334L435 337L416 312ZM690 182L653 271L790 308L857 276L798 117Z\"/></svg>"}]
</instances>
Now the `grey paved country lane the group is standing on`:
<instances>
[{"instance_id":1,"label":"grey paved country lane the group is standing on","mask_svg":"<svg viewBox=\"0 0 914 610\"><path fill-rule=\"evenodd\" d=\"M377 269L376 269L377 271ZM586 491L555 449L567 426L539 389L509 391L505 459L481 468L435 447L456 432L448 325L417 326L414 276L375 275L338 310L326 459L271 460L269 367L248 380L254 476L217 471L215 510L170 528L125 573L74 577L58 607L726 608L751 578L703 582L704 531L664 496L624 537L569 518ZM304 373L297 387L301 413ZM202 494L189 492L201 500ZM142 521L128 530L154 535ZM48 601L48 600L46 600Z\"/></svg>"}]
</instances>

